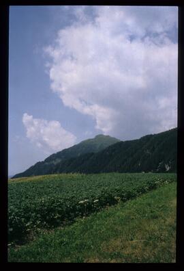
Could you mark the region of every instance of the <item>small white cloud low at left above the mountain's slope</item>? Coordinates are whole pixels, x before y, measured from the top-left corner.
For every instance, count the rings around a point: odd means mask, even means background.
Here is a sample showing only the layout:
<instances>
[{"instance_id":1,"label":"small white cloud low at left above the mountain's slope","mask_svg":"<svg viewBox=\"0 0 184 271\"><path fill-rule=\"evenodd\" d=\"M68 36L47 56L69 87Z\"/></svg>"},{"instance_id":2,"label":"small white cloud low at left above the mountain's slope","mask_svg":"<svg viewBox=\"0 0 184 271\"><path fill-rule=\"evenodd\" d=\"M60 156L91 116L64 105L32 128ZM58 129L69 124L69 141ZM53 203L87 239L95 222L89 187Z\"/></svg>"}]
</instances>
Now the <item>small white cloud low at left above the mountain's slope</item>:
<instances>
[{"instance_id":1,"label":"small white cloud low at left above the mountain's slope","mask_svg":"<svg viewBox=\"0 0 184 271\"><path fill-rule=\"evenodd\" d=\"M76 137L61 127L57 120L42 120L25 113L22 122L27 130L27 138L46 153L61 151L76 142Z\"/></svg>"}]
</instances>

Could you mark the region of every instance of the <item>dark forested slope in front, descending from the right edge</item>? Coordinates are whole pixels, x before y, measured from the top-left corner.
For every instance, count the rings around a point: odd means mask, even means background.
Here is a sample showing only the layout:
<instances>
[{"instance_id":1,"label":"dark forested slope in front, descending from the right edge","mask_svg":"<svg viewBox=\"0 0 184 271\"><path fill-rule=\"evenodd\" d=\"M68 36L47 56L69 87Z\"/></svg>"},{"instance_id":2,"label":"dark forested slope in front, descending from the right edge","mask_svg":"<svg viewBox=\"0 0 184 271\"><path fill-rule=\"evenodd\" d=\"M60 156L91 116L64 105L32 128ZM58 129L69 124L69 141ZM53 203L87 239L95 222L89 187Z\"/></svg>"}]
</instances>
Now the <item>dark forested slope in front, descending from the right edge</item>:
<instances>
[{"instance_id":1,"label":"dark forested slope in front, descending from the right edge","mask_svg":"<svg viewBox=\"0 0 184 271\"><path fill-rule=\"evenodd\" d=\"M98 153L87 153L55 165L50 173L62 172L176 172L177 129L139 140L117 142Z\"/></svg>"}]
</instances>

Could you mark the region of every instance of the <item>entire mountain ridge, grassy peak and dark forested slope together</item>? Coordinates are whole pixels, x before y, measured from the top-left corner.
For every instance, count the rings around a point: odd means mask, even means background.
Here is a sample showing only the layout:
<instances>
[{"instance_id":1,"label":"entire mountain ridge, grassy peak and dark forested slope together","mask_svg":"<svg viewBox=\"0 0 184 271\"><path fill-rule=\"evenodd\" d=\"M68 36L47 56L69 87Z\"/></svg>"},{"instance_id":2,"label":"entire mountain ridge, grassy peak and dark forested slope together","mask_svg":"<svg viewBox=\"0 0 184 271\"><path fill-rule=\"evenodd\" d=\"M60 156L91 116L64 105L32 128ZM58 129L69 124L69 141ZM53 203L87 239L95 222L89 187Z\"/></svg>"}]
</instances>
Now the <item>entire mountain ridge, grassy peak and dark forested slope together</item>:
<instances>
[{"instance_id":1,"label":"entire mountain ridge, grassy peak and dark forested slope together","mask_svg":"<svg viewBox=\"0 0 184 271\"><path fill-rule=\"evenodd\" d=\"M125 142L97 135L14 177L68 172L177 172L177 129Z\"/></svg>"}]
</instances>

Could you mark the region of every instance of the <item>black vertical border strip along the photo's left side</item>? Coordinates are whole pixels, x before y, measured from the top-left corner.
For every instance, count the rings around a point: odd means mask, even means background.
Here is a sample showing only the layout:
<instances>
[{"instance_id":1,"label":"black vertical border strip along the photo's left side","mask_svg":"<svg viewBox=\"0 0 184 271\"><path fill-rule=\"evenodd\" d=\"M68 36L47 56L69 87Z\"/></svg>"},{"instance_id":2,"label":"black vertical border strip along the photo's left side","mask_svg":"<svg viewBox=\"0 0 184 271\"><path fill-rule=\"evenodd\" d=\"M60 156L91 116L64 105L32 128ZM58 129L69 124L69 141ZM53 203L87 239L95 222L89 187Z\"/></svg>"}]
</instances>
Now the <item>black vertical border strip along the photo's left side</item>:
<instances>
[{"instance_id":1,"label":"black vertical border strip along the photo's left side","mask_svg":"<svg viewBox=\"0 0 184 271\"><path fill-rule=\"evenodd\" d=\"M8 45L9 45L9 7L3 5L0 7L0 65L1 65L1 89L0 89L0 109L1 109L1 155L0 155L0 182L1 182L1 240L7 245L7 162L8 162ZM7 249L2 247L1 253L3 259L7 258ZM1 256L0 256L1 259Z\"/></svg>"}]
</instances>

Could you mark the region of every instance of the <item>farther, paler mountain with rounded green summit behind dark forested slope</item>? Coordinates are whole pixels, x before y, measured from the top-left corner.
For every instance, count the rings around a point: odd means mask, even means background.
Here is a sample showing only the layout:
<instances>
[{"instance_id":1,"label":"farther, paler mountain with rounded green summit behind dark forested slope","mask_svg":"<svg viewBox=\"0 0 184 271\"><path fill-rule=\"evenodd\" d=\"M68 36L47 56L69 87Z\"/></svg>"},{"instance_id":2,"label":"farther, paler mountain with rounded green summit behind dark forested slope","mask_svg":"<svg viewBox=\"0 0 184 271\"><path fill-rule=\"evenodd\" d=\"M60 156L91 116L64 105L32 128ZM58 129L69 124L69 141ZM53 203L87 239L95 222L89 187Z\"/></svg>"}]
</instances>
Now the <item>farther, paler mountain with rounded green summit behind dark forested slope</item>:
<instances>
[{"instance_id":1,"label":"farther, paler mountain with rounded green summit behind dark forested slope","mask_svg":"<svg viewBox=\"0 0 184 271\"><path fill-rule=\"evenodd\" d=\"M74 157L75 159L78 159L78 157L85 155L85 153L97 153L103 149L106 149L106 147L120 141L121 140L112 138L109 135L96 135L95 138L84 140L68 149L64 149L63 151L59 151L58 153L50 155L44 161L37 162L35 165L31 166L31 168L28 168L24 172L14 175L12 179L50 174L50 172L54 172L53 168L55 168L55 166L61 162L70 161L70 159Z\"/></svg>"}]
</instances>

